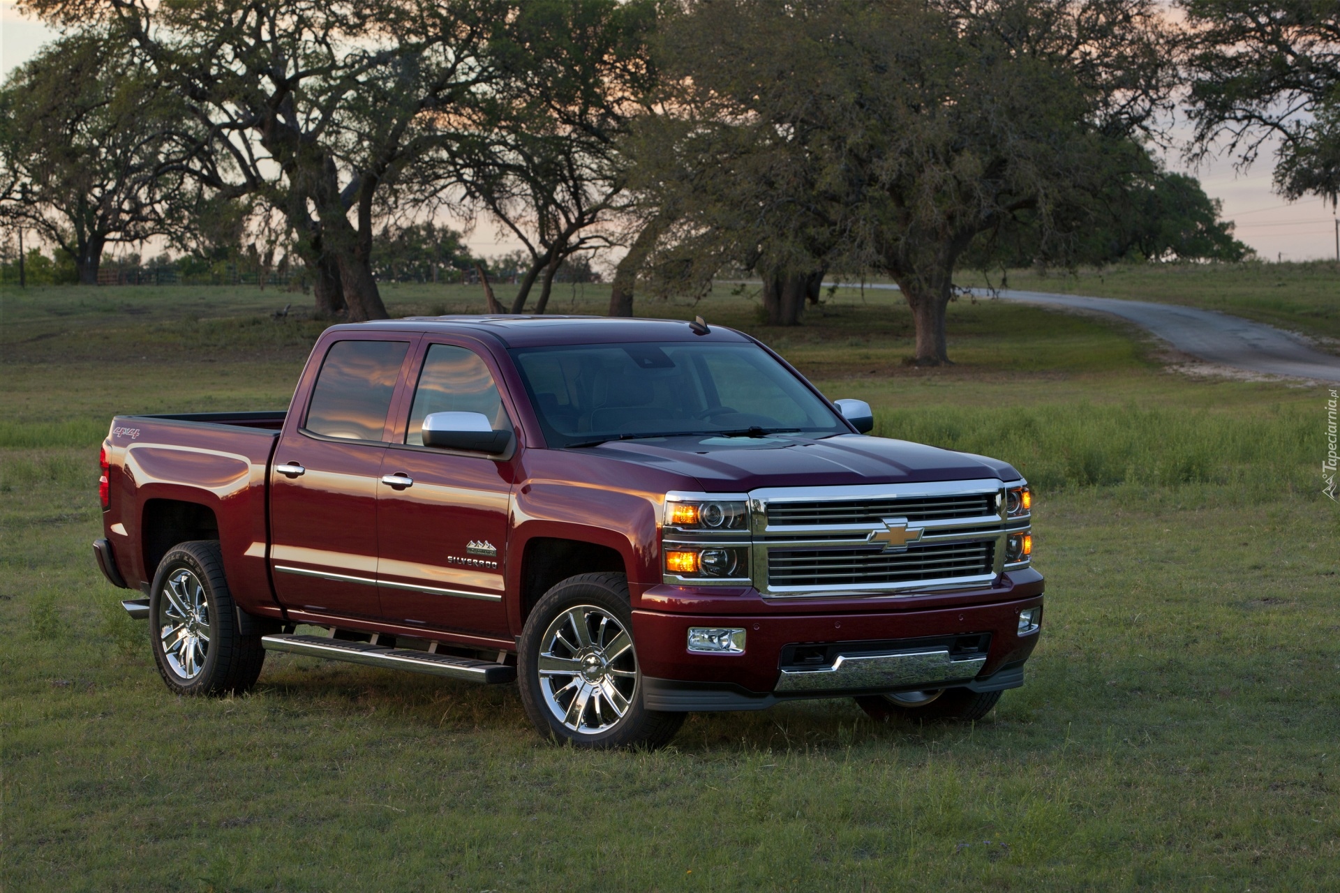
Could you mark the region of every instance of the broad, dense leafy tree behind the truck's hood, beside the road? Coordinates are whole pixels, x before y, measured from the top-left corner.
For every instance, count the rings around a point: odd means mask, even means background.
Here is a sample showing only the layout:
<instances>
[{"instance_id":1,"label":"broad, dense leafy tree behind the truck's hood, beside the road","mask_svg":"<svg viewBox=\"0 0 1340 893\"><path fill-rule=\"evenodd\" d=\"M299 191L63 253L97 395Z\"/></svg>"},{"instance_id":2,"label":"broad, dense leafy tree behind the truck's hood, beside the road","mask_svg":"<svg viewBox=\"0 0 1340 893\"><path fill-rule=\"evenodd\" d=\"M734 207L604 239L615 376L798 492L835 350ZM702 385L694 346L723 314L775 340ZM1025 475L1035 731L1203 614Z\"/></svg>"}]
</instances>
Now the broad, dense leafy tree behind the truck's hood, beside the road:
<instances>
[{"instance_id":1,"label":"broad, dense leafy tree behind the truck's hood, beside the road","mask_svg":"<svg viewBox=\"0 0 1340 893\"><path fill-rule=\"evenodd\" d=\"M1147 0L722 0L674 28L681 137L643 182L687 209L687 240L773 277L781 321L816 272L890 274L926 364L949 360L974 241L1026 214L1061 254L1170 87Z\"/></svg>"}]
</instances>

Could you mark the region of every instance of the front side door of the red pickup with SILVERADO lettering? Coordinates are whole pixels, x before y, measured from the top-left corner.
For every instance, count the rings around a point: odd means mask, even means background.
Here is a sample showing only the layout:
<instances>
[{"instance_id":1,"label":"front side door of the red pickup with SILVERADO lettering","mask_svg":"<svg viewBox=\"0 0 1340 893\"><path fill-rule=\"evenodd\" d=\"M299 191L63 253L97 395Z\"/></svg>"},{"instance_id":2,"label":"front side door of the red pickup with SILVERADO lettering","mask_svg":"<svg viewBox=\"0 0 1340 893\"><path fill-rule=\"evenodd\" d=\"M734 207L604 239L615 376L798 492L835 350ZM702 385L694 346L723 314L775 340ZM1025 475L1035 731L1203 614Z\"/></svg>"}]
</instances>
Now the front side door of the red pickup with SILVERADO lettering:
<instances>
[{"instance_id":1,"label":"front side door of the red pickup with SILVERADO lettering","mask_svg":"<svg viewBox=\"0 0 1340 893\"><path fill-rule=\"evenodd\" d=\"M473 349L425 344L401 443L387 447L377 501L378 580L387 620L507 636L503 601L512 466L423 446L430 412L482 412L512 430L488 364ZM399 481L399 483L397 483Z\"/></svg>"}]
</instances>

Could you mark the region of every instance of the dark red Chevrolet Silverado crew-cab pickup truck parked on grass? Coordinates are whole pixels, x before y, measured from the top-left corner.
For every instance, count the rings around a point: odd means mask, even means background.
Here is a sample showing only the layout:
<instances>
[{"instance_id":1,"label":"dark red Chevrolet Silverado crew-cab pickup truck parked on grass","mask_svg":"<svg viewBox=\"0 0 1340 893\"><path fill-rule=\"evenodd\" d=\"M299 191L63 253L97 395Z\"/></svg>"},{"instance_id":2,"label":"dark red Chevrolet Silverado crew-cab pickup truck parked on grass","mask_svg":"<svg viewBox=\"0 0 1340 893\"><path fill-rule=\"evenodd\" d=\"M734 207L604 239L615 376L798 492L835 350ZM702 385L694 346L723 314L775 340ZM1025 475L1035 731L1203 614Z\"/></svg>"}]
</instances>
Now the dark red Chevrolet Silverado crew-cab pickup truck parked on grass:
<instances>
[{"instance_id":1,"label":"dark red Chevrolet Silverado crew-cab pickup truck parked on grass","mask_svg":"<svg viewBox=\"0 0 1340 893\"><path fill-rule=\"evenodd\" d=\"M287 651L517 681L587 747L799 698L980 718L1037 641L1032 495L872 426L701 320L336 325L287 412L117 416L94 556L180 694Z\"/></svg>"}]
</instances>

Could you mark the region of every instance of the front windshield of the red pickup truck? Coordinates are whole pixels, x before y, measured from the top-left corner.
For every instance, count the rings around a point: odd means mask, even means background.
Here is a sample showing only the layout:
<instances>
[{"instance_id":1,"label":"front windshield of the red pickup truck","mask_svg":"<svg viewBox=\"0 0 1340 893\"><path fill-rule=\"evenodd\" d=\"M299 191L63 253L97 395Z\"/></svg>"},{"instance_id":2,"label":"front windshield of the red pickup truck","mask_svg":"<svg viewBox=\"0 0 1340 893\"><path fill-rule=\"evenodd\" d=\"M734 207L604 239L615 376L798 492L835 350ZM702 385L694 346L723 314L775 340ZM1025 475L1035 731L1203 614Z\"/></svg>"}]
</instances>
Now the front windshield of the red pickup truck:
<instances>
[{"instance_id":1,"label":"front windshield of the red pickup truck","mask_svg":"<svg viewBox=\"0 0 1340 893\"><path fill-rule=\"evenodd\" d=\"M553 447L701 434L847 434L753 344L584 344L512 351Z\"/></svg>"}]
</instances>

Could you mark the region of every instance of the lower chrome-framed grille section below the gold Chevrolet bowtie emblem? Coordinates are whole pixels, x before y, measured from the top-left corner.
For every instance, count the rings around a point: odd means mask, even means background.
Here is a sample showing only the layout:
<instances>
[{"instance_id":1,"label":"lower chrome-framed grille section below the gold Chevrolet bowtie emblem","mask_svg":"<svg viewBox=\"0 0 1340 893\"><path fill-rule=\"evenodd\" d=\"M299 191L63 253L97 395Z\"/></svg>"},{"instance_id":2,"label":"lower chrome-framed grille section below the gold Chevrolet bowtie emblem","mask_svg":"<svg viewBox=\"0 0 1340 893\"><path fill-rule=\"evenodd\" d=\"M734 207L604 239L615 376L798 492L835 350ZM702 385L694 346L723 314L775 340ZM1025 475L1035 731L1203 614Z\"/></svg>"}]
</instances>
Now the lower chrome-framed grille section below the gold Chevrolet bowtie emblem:
<instances>
[{"instance_id":1,"label":"lower chrome-framed grille section below the gold Chevrolet bowtie emblem","mask_svg":"<svg viewBox=\"0 0 1340 893\"><path fill-rule=\"evenodd\" d=\"M989 574L994 541L937 542L907 552L880 549L777 549L768 552L770 586L863 586Z\"/></svg>"}]
</instances>

